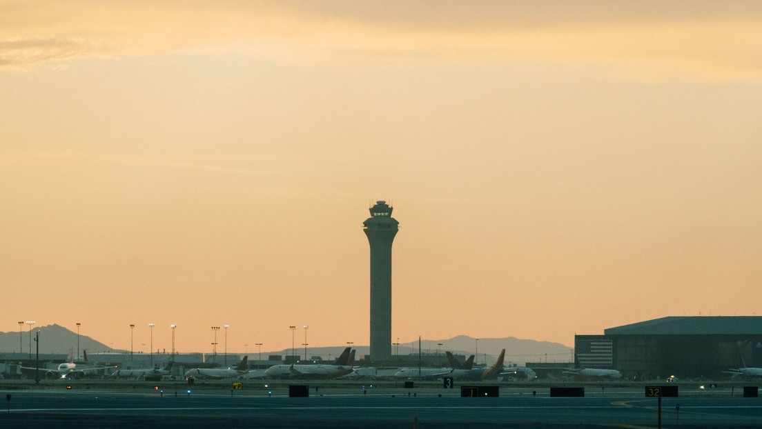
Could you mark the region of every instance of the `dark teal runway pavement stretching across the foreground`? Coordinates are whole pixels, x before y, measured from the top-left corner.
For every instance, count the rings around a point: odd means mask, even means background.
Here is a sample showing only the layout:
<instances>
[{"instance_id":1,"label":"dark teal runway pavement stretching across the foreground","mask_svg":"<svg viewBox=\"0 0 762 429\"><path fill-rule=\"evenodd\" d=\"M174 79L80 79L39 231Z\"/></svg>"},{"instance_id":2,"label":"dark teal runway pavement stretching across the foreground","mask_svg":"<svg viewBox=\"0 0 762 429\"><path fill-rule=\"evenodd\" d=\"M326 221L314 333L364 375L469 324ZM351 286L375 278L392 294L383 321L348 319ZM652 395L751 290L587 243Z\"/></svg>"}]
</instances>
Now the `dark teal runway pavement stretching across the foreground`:
<instances>
[{"instance_id":1,"label":"dark teal runway pavement stretching across the foreground","mask_svg":"<svg viewBox=\"0 0 762 429\"><path fill-rule=\"evenodd\" d=\"M360 386L310 391L124 386L3 390L12 398L0 427L496 428L658 427L657 399L640 389L590 389L584 398L551 398L547 389L501 388L498 398L460 398L458 389ZM675 406L680 405L680 411ZM678 424L679 419L679 424ZM762 427L762 401L736 395L662 399L661 427Z\"/></svg>"}]
</instances>

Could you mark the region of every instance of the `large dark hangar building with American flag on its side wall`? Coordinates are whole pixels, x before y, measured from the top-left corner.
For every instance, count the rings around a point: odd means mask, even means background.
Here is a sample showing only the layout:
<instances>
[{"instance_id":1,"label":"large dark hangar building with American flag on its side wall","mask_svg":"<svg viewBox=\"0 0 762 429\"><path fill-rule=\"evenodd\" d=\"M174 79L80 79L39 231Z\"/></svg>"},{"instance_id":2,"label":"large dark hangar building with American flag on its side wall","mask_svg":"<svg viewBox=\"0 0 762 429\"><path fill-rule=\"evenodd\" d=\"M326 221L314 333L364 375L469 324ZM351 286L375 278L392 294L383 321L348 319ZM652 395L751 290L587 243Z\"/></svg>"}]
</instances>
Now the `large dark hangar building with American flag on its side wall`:
<instances>
[{"instance_id":1,"label":"large dark hangar building with American flag on its side wall","mask_svg":"<svg viewBox=\"0 0 762 429\"><path fill-rule=\"evenodd\" d=\"M625 379L719 379L762 367L762 317L671 316L575 335L578 367L619 370Z\"/></svg>"}]
</instances>

